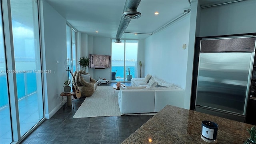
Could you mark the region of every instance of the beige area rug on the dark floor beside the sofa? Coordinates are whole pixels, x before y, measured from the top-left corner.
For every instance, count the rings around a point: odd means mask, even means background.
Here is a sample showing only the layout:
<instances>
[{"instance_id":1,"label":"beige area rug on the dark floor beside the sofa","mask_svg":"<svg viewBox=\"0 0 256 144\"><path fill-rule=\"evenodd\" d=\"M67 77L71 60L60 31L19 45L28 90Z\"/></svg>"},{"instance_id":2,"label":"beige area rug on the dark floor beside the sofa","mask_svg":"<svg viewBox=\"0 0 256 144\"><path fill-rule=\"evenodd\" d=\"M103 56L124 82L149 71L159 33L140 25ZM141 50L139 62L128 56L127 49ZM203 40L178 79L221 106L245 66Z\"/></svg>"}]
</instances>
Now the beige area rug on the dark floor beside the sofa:
<instances>
[{"instance_id":1,"label":"beige area rug on the dark floor beside the sofa","mask_svg":"<svg viewBox=\"0 0 256 144\"><path fill-rule=\"evenodd\" d=\"M86 97L73 118L88 118L98 116L121 116L118 105L118 92L112 86L98 86L92 96ZM124 115L154 115L156 113L124 114Z\"/></svg>"}]
</instances>

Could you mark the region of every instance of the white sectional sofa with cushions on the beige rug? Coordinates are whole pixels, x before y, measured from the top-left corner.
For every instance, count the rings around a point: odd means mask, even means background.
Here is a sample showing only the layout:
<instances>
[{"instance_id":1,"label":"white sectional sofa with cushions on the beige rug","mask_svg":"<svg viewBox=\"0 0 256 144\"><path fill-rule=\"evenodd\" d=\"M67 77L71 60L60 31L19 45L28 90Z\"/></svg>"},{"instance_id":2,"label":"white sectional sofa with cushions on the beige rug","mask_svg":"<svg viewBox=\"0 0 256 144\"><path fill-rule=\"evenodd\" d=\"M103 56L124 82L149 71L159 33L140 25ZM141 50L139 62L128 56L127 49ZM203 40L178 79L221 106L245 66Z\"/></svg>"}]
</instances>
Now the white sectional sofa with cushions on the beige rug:
<instances>
[{"instance_id":1,"label":"white sectional sofa with cushions on the beige rug","mask_svg":"<svg viewBox=\"0 0 256 144\"><path fill-rule=\"evenodd\" d=\"M120 88L121 114L159 112L167 104L184 108L185 90L153 76L146 83L145 78L132 78L131 86Z\"/></svg>"}]
</instances>

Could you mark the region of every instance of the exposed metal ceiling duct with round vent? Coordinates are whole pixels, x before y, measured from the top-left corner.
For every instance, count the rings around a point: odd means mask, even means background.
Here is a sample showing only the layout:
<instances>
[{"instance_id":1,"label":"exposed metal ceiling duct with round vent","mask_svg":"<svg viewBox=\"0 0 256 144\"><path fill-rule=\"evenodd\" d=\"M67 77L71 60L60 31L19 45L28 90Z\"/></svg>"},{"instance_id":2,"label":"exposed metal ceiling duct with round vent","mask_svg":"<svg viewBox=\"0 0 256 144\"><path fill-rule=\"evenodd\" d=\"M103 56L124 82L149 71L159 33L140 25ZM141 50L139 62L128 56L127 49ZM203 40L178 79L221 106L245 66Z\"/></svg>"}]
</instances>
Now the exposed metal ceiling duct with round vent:
<instances>
[{"instance_id":1,"label":"exposed metal ceiling duct with round vent","mask_svg":"<svg viewBox=\"0 0 256 144\"><path fill-rule=\"evenodd\" d=\"M116 43L120 43L124 31L128 27L131 20L138 19L141 16L140 12L137 12L137 8L141 0L126 0L124 4L124 10L122 13L121 21L116 32Z\"/></svg>"}]
</instances>

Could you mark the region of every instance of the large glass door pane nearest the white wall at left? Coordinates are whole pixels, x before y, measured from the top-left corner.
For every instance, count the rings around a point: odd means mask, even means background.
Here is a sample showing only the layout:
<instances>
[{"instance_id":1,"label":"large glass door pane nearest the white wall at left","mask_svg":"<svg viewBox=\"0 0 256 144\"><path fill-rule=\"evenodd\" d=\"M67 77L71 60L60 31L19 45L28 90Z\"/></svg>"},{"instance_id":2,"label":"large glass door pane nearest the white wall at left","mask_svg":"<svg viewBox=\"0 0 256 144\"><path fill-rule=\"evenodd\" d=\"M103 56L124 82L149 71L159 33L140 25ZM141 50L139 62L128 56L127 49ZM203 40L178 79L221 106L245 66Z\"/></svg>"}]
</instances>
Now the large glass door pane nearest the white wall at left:
<instances>
[{"instance_id":1,"label":"large glass door pane nearest the white wall at left","mask_svg":"<svg viewBox=\"0 0 256 144\"><path fill-rule=\"evenodd\" d=\"M31 0L11 0L10 4L22 136L44 117L38 5Z\"/></svg>"}]
</instances>

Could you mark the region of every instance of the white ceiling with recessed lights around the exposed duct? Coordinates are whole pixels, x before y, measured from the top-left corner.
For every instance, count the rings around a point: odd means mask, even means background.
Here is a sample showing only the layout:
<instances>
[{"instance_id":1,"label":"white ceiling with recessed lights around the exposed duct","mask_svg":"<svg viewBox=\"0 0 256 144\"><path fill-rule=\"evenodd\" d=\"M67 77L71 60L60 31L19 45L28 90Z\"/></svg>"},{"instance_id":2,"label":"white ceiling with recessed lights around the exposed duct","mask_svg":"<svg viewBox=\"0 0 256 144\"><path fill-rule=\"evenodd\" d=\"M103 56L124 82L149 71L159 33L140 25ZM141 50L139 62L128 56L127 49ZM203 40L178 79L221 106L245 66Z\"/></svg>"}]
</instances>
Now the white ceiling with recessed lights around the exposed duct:
<instances>
[{"instance_id":1,"label":"white ceiling with recessed lights around the exposed duct","mask_svg":"<svg viewBox=\"0 0 256 144\"><path fill-rule=\"evenodd\" d=\"M115 38L125 0L46 0L76 30L91 36ZM230 0L229 0L230 1ZM223 0L203 0L203 4L220 3ZM188 10L188 0L141 0L137 11L141 17L131 20L121 39L145 39L158 28L174 20ZM154 15L154 12L159 15ZM95 31L98 31L96 33Z\"/></svg>"}]
</instances>

